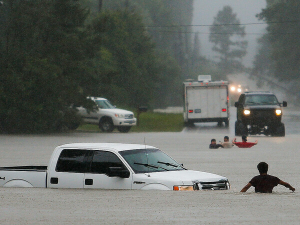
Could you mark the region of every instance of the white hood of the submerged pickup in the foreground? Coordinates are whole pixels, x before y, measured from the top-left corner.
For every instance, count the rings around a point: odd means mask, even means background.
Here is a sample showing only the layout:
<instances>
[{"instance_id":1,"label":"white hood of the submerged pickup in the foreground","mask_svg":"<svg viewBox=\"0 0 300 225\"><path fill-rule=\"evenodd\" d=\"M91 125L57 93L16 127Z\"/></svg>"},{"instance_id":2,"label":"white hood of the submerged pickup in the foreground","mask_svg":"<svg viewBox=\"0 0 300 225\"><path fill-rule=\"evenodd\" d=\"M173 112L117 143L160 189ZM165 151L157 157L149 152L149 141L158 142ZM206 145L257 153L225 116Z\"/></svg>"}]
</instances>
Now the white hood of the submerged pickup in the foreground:
<instances>
[{"instance_id":1,"label":"white hood of the submerged pickup in the foreground","mask_svg":"<svg viewBox=\"0 0 300 225\"><path fill-rule=\"evenodd\" d=\"M185 185L190 185L192 180L198 181L218 181L227 180L226 177L214 173L195 171L195 170L175 170L163 172L150 172L152 179L180 180Z\"/></svg>"}]
</instances>

